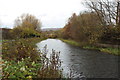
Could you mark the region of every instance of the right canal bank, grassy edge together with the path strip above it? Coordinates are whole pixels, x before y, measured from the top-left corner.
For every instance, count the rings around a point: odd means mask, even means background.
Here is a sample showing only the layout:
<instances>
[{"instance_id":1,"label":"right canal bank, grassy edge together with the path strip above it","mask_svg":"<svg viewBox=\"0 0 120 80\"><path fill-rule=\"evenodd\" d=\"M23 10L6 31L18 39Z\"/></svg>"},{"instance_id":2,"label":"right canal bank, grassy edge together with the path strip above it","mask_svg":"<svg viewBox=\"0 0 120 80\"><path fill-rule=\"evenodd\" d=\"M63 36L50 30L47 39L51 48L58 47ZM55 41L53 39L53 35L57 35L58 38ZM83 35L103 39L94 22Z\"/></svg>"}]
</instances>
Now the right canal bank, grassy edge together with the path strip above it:
<instances>
[{"instance_id":1,"label":"right canal bank, grassy edge together with the path strip above it","mask_svg":"<svg viewBox=\"0 0 120 80\"><path fill-rule=\"evenodd\" d=\"M110 44L97 43L97 44L92 45L92 46L91 45L81 46L79 42L74 41L74 40L61 39L61 38L59 38L59 40L65 42L65 43L68 43L70 45L73 45L73 46L81 47L83 49L99 50L101 52L120 56L120 45L110 45Z\"/></svg>"}]
</instances>

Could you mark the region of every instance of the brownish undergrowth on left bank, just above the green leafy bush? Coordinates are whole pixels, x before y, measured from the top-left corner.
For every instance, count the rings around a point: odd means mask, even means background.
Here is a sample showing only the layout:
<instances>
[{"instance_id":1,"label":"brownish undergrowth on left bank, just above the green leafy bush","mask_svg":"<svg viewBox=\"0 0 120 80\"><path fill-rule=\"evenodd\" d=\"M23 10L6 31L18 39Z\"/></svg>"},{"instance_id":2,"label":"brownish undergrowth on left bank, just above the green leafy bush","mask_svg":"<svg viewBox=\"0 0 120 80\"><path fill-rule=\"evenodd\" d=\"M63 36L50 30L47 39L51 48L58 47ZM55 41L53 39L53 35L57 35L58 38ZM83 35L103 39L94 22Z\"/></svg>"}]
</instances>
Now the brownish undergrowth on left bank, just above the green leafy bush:
<instances>
[{"instance_id":1,"label":"brownish undergrowth on left bank, just above the green leafy bush","mask_svg":"<svg viewBox=\"0 0 120 80\"><path fill-rule=\"evenodd\" d=\"M2 43L3 59L21 60L22 58L30 57L32 60L37 59L38 51L34 48L33 43L29 44L31 40L16 40L5 41Z\"/></svg>"}]
</instances>

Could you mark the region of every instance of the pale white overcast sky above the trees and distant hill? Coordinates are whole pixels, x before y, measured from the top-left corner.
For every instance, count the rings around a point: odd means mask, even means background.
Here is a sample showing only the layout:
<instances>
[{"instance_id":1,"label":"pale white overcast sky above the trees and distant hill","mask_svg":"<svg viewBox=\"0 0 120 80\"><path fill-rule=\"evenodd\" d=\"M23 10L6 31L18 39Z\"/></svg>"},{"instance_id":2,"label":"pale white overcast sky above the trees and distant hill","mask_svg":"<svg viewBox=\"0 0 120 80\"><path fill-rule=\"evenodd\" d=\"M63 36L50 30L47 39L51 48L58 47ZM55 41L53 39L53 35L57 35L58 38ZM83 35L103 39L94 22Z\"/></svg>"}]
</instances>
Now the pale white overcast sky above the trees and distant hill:
<instances>
[{"instance_id":1,"label":"pale white overcast sky above the trees and distant hill","mask_svg":"<svg viewBox=\"0 0 120 80\"><path fill-rule=\"evenodd\" d=\"M23 13L36 16L42 28L62 28L68 18L85 8L82 0L0 0L0 23L13 28L14 20Z\"/></svg>"}]
</instances>

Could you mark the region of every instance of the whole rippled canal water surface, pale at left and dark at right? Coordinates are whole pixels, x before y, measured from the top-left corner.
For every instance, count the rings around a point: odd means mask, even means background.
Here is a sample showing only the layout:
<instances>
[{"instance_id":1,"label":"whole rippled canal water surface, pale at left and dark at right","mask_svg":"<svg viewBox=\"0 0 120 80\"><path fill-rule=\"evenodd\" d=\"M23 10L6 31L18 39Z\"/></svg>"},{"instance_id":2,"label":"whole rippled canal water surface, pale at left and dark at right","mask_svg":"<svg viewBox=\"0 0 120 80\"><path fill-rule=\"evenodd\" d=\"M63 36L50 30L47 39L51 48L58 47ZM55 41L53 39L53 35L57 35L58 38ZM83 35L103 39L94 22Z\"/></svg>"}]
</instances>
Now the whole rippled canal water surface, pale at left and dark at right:
<instances>
[{"instance_id":1,"label":"whole rippled canal water surface, pale at left and dark at right","mask_svg":"<svg viewBox=\"0 0 120 80\"><path fill-rule=\"evenodd\" d=\"M69 45L58 39L47 39L37 44L39 49L47 45L49 52L52 49L60 51L60 59L64 74L72 69L74 75L83 72L87 78L117 78L118 56L102 53L96 50L85 50Z\"/></svg>"}]
</instances>

